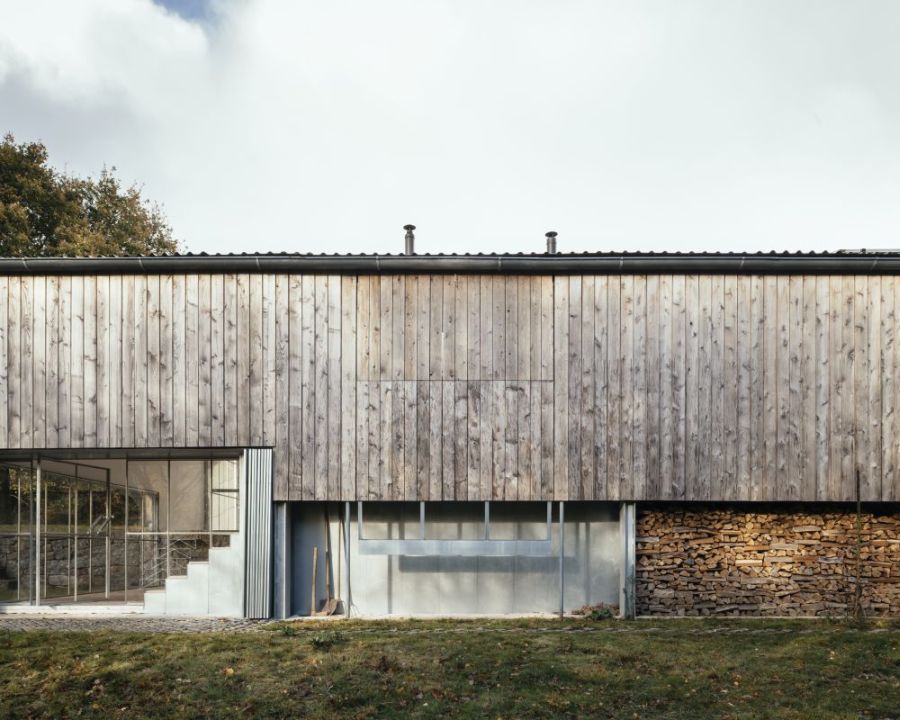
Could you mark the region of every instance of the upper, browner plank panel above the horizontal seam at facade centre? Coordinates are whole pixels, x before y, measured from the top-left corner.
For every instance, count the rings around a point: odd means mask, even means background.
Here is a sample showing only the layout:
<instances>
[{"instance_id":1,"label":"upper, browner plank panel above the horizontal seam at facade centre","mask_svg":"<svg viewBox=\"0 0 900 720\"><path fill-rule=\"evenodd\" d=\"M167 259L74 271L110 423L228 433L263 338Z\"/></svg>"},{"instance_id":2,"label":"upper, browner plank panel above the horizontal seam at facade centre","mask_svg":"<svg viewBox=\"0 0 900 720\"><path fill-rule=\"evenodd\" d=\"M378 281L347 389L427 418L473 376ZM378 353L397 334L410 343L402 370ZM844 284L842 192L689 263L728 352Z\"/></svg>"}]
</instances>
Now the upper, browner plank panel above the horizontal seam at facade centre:
<instances>
[{"instance_id":1,"label":"upper, browner plank panel above the horizontal seam at facade centre","mask_svg":"<svg viewBox=\"0 0 900 720\"><path fill-rule=\"evenodd\" d=\"M552 379L552 281L519 276L359 279L360 381Z\"/></svg>"}]
</instances>

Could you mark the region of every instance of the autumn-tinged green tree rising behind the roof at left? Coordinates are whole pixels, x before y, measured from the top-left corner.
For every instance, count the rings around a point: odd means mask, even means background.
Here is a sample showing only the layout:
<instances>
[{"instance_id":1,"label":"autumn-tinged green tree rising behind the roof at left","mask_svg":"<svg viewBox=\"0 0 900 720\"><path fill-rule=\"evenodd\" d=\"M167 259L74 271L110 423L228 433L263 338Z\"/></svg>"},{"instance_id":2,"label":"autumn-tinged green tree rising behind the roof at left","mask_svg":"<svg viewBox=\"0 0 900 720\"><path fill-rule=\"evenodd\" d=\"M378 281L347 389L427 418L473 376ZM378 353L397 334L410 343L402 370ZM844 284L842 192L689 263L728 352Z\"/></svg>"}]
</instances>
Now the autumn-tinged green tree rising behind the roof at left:
<instances>
[{"instance_id":1,"label":"autumn-tinged green tree rising behind the roof at left","mask_svg":"<svg viewBox=\"0 0 900 720\"><path fill-rule=\"evenodd\" d=\"M123 188L115 168L96 180L48 163L39 142L0 142L0 256L161 255L177 242L160 207Z\"/></svg>"}]
</instances>

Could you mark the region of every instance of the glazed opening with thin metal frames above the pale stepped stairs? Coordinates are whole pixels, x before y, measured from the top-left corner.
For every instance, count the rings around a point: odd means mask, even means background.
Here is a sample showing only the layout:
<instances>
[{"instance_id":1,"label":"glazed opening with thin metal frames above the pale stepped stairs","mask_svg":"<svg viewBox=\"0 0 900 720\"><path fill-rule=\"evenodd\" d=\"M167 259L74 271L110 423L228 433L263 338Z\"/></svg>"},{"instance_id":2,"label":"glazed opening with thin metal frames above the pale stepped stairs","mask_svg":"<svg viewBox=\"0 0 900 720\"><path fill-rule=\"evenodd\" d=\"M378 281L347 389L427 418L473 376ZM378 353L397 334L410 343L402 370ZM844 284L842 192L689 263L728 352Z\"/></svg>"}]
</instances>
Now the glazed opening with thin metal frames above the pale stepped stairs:
<instances>
[{"instance_id":1,"label":"glazed opening with thin metal frames above the pale stepped stairs","mask_svg":"<svg viewBox=\"0 0 900 720\"><path fill-rule=\"evenodd\" d=\"M0 603L141 602L238 530L238 461L0 464Z\"/></svg>"}]
</instances>

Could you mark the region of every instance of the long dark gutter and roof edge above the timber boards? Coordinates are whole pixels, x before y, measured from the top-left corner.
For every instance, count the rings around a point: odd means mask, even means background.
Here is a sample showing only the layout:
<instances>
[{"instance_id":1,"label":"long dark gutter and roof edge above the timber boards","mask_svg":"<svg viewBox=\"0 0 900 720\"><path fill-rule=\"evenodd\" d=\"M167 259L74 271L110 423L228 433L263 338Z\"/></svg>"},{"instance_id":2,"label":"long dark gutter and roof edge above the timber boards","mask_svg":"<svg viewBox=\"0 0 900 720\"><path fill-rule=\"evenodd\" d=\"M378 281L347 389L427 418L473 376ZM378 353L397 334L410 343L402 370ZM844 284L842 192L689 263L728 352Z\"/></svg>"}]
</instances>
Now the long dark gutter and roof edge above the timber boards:
<instances>
[{"instance_id":1,"label":"long dark gutter and roof edge above the timber boards","mask_svg":"<svg viewBox=\"0 0 900 720\"><path fill-rule=\"evenodd\" d=\"M125 258L0 258L0 275L177 275L194 273L894 275L900 274L900 254L182 255Z\"/></svg>"}]
</instances>

